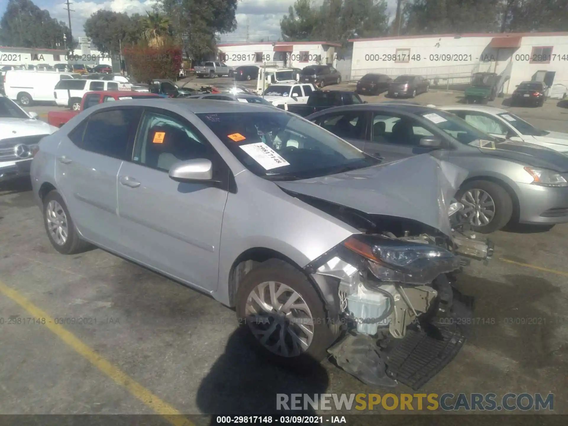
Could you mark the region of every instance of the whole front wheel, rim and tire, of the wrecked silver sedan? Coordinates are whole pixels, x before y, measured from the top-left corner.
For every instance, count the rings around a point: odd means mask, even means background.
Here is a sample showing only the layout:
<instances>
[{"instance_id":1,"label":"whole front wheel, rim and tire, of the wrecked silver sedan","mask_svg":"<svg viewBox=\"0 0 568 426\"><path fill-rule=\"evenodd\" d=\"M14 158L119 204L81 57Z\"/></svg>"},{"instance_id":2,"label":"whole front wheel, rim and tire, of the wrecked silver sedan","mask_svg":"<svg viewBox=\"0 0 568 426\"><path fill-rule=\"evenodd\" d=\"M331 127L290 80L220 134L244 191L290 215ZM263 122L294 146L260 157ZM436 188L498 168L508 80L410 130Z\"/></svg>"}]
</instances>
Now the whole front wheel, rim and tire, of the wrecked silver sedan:
<instances>
[{"instance_id":1,"label":"whole front wheel, rim and tire, of the wrecked silver sedan","mask_svg":"<svg viewBox=\"0 0 568 426\"><path fill-rule=\"evenodd\" d=\"M281 260L268 260L245 275L236 312L254 345L281 364L319 362L335 337L311 282Z\"/></svg>"}]
</instances>

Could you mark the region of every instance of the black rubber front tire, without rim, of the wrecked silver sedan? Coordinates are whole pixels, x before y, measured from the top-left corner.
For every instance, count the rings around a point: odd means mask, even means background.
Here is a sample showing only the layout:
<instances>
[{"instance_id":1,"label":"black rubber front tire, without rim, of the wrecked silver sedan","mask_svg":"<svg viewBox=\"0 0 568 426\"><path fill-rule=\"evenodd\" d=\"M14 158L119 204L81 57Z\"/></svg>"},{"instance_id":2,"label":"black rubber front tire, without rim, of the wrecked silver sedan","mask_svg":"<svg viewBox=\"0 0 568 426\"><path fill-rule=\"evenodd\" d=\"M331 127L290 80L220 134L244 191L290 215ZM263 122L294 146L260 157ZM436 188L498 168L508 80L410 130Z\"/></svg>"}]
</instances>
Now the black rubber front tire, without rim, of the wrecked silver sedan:
<instances>
[{"instance_id":1,"label":"black rubber front tire, without rim, of the wrecked silver sedan","mask_svg":"<svg viewBox=\"0 0 568 426\"><path fill-rule=\"evenodd\" d=\"M272 350L268 349L266 346L260 343L257 337L254 336L252 329L254 329L255 327L256 329L258 329L259 327L265 327L264 329L266 329L275 323L274 317L270 318L270 321L272 322L269 322L269 319L267 317L264 317L266 318L266 324L260 323L260 325L259 320L254 318L247 318L247 315L250 315L247 312L247 299L249 298L249 295L253 290L257 289L257 286L266 282L274 282L275 286L286 285L287 287L289 287L289 289L298 293L303 299L304 303L307 305L311 314L311 318L313 319L313 323L308 325L308 327L312 327L313 337L310 345L307 347L307 349L304 350L304 352L300 352L295 356L286 357L282 354L275 353ZM265 291L269 293L270 287L266 286ZM260 292L257 293L257 295L258 294L260 294ZM288 291L285 291L282 296L285 294L288 294ZM281 303L285 303L285 300L286 299L283 298L281 300ZM327 315L325 314L324 302L320 299L319 294L314 289L314 286L312 286L306 275L304 275L298 269L294 268L294 266L277 259L270 259L266 262L263 262L261 265L257 266L257 268L253 269L247 275L245 275L243 281L239 285L239 289L237 290L236 314L237 318L239 318L239 323L245 324L245 328L248 329L249 340L252 342L252 344L256 346L258 350L260 350L263 356L270 358L270 360L278 364L301 367L304 365L309 365L310 363L313 364L314 361L319 362L326 356L327 349L337 336L336 333L328 327L329 321L327 320ZM308 314L306 314L306 312L303 312L302 315L302 318L306 318ZM280 318L283 317L281 316ZM292 328L291 325L295 325L295 327ZM274 332L272 332L272 334L269 335L269 338L274 339L279 335L279 327L281 326L275 325L275 330ZM287 323L285 324L285 330L286 329L292 329L293 331L297 332L298 325ZM303 334L303 332L301 331L299 331L299 333ZM289 339L287 343L290 343L290 335L287 335L287 337ZM281 351L278 350L277 352Z\"/></svg>"}]
</instances>

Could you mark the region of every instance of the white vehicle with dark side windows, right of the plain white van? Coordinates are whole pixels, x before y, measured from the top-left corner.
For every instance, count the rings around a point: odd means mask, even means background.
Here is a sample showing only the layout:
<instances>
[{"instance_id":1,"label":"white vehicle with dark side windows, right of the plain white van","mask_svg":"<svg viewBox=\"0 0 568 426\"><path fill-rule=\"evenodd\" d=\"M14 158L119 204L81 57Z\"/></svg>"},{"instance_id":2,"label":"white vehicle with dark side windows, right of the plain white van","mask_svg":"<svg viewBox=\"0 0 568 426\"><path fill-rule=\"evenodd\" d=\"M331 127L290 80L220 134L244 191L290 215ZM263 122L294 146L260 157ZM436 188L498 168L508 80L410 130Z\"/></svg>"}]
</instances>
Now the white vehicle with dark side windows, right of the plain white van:
<instances>
[{"instance_id":1,"label":"white vehicle with dark side windows, right of the plain white van","mask_svg":"<svg viewBox=\"0 0 568 426\"><path fill-rule=\"evenodd\" d=\"M81 99L87 91L116 91L132 90L131 84L109 80L87 80L86 78L73 78L61 80L53 89L55 102L59 106L68 106L73 111L81 109Z\"/></svg>"}]
</instances>

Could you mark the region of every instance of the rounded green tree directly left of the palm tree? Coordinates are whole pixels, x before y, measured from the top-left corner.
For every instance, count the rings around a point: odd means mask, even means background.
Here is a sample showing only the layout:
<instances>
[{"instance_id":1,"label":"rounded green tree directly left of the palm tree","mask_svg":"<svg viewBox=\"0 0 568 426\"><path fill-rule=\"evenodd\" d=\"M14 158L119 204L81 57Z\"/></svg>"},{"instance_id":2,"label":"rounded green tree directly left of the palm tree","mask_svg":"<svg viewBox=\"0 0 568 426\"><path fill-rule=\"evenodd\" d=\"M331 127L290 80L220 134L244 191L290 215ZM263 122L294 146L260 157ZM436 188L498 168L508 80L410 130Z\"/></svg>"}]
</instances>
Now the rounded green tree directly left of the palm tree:
<instances>
[{"instance_id":1,"label":"rounded green tree directly left of the palm tree","mask_svg":"<svg viewBox=\"0 0 568 426\"><path fill-rule=\"evenodd\" d=\"M140 15L133 19L126 13L98 10L85 21L85 35L102 53L118 52L122 43L136 43L142 27Z\"/></svg>"}]
</instances>

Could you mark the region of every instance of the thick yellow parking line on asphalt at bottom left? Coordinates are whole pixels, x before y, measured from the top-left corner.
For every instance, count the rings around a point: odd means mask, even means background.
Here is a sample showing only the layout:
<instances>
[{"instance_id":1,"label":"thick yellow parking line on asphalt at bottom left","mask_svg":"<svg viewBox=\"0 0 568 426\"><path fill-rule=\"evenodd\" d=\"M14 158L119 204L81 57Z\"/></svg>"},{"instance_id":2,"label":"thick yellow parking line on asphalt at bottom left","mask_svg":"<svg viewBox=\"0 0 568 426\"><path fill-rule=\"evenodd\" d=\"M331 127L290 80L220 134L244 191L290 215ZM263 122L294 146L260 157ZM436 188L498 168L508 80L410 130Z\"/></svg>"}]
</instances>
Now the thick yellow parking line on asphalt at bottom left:
<instances>
[{"instance_id":1,"label":"thick yellow parking line on asphalt at bottom left","mask_svg":"<svg viewBox=\"0 0 568 426\"><path fill-rule=\"evenodd\" d=\"M55 324L55 321L47 314L47 312L44 312L33 303L29 302L26 298L24 298L24 296L19 294L18 291L11 289L1 281L0 293L18 303L33 318L45 318L45 327L49 328L57 337L71 346L75 352L85 357L87 361L105 373L116 383L126 387L128 392L130 392L133 396L136 396L136 398L141 400L141 402L143 402L146 406L152 408L154 412L168 420L169 423L174 426L194 426L194 424L186 417L183 417L176 408L162 401L156 395L152 394L151 391L140 385L140 383L135 382L118 367L112 365L93 349L89 348L89 346L74 336L73 333L62 327L62 325Z\"/></svg>"}]
</instances>

